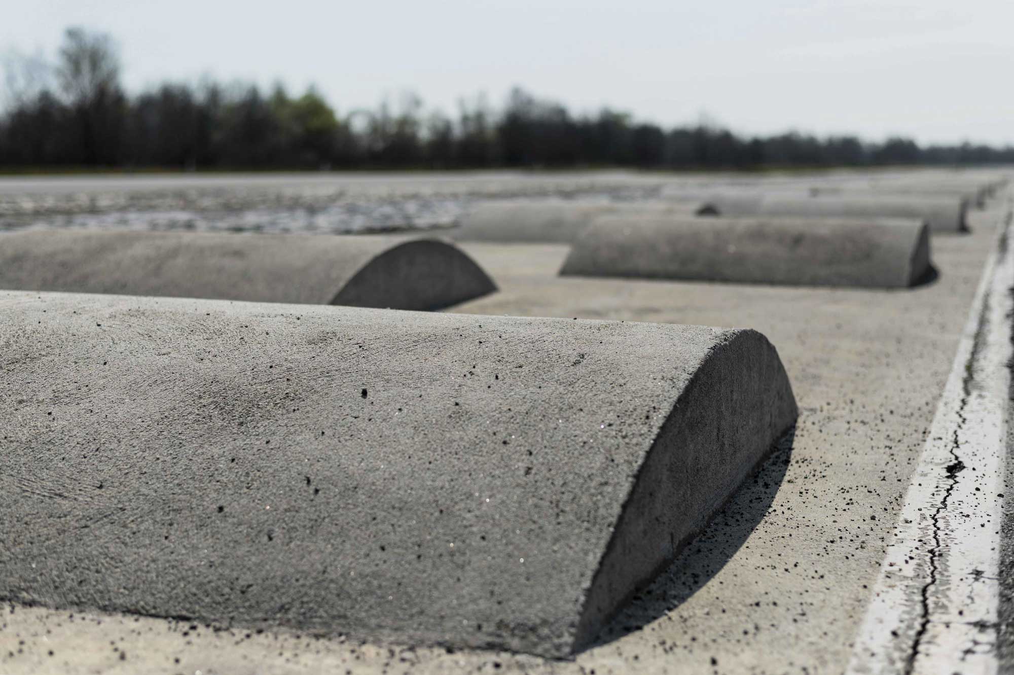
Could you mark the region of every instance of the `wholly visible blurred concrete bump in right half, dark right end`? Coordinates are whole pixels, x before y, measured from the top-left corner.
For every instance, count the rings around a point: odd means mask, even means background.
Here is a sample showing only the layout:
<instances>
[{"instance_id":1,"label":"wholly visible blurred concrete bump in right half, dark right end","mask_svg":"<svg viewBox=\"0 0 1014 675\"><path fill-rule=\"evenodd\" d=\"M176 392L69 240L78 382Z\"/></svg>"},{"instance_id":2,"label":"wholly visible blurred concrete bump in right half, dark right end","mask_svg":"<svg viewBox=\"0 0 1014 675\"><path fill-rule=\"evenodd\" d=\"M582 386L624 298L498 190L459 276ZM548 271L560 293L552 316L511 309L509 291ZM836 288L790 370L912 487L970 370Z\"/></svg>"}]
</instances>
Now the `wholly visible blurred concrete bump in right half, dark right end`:
<instances>
[{"instance_id":1,"label":"wholly visible blurred concrete bump in right half, dark right end","mask_svg":"<svg viewBox=\"0 0 1014 675\"><path fill-rule=\"evenodd\" d=\"M915 220L601 218L561 275L904 288L931 273Z\"/></svg>"}]
</instances>

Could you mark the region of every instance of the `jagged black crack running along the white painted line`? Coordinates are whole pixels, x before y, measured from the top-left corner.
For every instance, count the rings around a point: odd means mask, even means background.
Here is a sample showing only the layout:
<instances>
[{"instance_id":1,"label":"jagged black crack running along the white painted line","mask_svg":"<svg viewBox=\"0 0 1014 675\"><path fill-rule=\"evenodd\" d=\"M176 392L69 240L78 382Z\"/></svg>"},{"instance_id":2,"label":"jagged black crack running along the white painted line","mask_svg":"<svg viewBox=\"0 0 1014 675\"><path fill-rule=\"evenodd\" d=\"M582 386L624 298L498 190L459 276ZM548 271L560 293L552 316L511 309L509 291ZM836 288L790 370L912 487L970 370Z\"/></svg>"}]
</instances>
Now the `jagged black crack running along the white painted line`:
<instances>
[{"instance_id":1,"label":"jagged black crack running along the white painted line","mask_svg":"<svg viewBox=\"0 0 1014 675\"><path fill-rule=\"evenodd\" d=\"M958 454L958 450L961 447L960 435L961 430L964 429L965 422L967 422L964 417L964 410L965 406L968 404L968 398L971 396L971 388L975 380L979 357L983 349L987 328L989 327L989 310L990 296L989 293L987 293L983 301L983 309L979 316L979 326L975 329L975 335L971 342L971 354L968 355L968 361L964 365L964 377L961 379L961 400L958 403L956 411L958 423L957 427L954 429L954 434L951 437L951 444L949 448L951 457L953 457L954 460L946 467L947 489L944 491L943 497L940 499L940 503L937 505L937 508L934 509L933 515L930 517L930 520L933 522L933 545L928 551L930 556L930 575L929 580L923 584L923 588L920 589L919 627L916 630L915 638L913 638L912 648L909 650L909 657L906 660L906 675L912 675L912 673L915 672L916 658L919 656L919 650L922 647L923 639L926 636L926 631L930 626L930 590L937 583L938 559L941 552L940 515L947 510L947 503L950 500L951 493L954 492L954 486L957 485L957 474L965 468L964 462L961 461L961 456Z\"/></svg>"}]
</instances>

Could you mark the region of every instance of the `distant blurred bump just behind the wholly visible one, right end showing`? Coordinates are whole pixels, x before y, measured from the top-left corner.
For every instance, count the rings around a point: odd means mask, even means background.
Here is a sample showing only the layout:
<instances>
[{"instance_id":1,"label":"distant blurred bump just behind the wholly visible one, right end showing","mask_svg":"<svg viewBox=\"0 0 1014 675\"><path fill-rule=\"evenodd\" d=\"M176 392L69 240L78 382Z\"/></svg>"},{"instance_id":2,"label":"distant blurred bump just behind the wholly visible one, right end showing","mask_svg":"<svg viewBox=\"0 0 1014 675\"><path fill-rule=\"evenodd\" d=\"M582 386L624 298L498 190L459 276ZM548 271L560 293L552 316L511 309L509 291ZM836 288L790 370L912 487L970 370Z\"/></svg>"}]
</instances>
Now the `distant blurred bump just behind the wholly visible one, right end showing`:
<instances>
[{"instance_id":1,"label":"distant blurred bump just behind the wholly visible one, right end showing","mask_svg":"<svg viewBox=\"0 0 1014 675\"><path fill-rule=\"evenodd\" d=\"M933 232L967 230L967 203L929 197L783 197L713 196L719 216L792 216L804 218L917 218Z\"/></svg>"}]
</instances>

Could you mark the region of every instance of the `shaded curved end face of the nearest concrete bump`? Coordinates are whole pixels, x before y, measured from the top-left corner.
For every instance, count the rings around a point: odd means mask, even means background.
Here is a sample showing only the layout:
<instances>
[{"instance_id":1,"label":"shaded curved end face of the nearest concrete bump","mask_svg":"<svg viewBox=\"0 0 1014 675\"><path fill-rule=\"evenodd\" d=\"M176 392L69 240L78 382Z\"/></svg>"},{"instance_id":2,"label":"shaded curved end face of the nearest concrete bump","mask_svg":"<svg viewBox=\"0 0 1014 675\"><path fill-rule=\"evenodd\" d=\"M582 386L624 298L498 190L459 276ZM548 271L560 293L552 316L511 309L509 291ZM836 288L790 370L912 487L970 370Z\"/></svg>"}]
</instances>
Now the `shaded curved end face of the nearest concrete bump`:
<instances>
[{"instance_id":1,"label":"shaded curved end face of the nearest concrete bump","mask_svg":"<svg viewBox=\"0 0 1014 675\"><path fill-rule=\"evenodd\" d=\"M574 647L614 613L697 533L794 426L798 409L775 348L729 330L676 399L637 477L585 598Z\"/></svg>"}]
</instances>

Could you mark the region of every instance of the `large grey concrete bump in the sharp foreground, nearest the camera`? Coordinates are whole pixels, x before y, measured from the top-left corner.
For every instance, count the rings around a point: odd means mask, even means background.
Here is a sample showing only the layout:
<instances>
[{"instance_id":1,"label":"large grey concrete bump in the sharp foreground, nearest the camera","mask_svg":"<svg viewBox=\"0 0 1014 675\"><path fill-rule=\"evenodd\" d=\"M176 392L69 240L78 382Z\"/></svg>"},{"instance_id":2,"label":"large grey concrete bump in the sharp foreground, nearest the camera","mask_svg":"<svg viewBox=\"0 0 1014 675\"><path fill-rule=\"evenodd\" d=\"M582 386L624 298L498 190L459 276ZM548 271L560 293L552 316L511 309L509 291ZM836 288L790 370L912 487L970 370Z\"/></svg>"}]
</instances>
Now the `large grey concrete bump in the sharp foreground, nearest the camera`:
<instances>
[{"instance_id":1,"label":"large grey concrete bump in the sharp foreground, nearest the camera","mask_svg":"<svg viewBox=\"0 0 1014 675\"><path fill-rule=\"evenodd\" d=\"M564 657L794 425L752 330L0 293L0 597Z\"/></svg>"}]
</instances>

